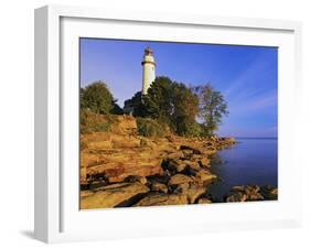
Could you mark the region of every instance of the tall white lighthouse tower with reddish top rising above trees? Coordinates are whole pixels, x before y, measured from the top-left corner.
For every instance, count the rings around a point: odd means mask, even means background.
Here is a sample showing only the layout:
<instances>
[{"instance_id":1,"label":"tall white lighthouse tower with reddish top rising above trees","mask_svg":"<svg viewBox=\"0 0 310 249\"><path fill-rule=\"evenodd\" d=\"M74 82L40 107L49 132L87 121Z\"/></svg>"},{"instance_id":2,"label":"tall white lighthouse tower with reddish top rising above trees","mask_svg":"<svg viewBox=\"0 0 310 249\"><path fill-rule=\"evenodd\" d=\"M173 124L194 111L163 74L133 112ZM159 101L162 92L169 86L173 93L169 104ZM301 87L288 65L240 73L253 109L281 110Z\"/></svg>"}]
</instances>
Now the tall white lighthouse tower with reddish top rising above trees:
<instances>
[{"instance_id":1,"label":"tall white lighthouse tower with reddish top rising above trees","mask_svg":"<svg viewBox=\"0 0 310 249\"><path fill-rule=\"evenodd\" d=\"M148 89L156 79L156 62L153 57L153 51L150 47L145 50L145 56L141 64L143 67L142 95L147 95Z\"/></svg>"}]
</instances>

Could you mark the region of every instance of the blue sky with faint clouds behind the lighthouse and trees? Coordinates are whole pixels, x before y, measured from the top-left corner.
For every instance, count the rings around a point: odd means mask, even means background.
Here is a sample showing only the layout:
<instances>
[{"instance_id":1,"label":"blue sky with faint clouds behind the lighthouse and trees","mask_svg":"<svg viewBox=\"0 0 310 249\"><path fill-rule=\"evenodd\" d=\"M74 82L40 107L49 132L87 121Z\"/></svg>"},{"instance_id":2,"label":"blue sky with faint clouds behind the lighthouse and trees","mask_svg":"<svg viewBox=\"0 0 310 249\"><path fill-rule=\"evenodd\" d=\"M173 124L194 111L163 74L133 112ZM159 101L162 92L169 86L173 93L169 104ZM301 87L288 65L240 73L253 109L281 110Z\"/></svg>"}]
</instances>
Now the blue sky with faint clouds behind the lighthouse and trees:
<instances>
[{"instance_id":1,"label":"blue sky with faint clouds behind the lighthouse and trees","mask_svg":"<svg viewBox=\"0 0 310 249\"><path fill-rule=\"evenodd\" d=\"M228 104L221 136L277 137L276 47L81 39L81 86L105 82L118 104L141 90L143 50L157 76L186 85L211 83Z\"/></svg>"}]
</instances>

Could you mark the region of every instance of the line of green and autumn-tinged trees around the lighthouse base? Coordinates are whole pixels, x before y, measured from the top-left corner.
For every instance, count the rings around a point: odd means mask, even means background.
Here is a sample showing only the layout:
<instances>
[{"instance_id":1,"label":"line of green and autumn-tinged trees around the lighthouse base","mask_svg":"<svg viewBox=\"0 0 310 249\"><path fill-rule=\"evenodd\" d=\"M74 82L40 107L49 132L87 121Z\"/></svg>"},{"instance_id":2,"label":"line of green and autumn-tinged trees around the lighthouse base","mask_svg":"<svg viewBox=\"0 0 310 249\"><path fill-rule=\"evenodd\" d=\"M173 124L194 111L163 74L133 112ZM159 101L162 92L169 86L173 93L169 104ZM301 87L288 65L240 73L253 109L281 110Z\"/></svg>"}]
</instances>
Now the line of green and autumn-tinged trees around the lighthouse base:
<instances>
[{"instance_id":1,"label":"line of green and autumn-tinged trees around the lighthouse base","mask_svg":"<svg viewBox=\"0 0 310 249\"><path fill-rule=\"evenodd\" d=\"M124 109L117 104L103 82L81 88L81 108L95 113L132 113L167 124L171 131L185 137L211 137L228 115L223 95L210 84L188 87L169 77L157 77L147 95L137 91L125 101Z\"/></svg>"}]
</instances>

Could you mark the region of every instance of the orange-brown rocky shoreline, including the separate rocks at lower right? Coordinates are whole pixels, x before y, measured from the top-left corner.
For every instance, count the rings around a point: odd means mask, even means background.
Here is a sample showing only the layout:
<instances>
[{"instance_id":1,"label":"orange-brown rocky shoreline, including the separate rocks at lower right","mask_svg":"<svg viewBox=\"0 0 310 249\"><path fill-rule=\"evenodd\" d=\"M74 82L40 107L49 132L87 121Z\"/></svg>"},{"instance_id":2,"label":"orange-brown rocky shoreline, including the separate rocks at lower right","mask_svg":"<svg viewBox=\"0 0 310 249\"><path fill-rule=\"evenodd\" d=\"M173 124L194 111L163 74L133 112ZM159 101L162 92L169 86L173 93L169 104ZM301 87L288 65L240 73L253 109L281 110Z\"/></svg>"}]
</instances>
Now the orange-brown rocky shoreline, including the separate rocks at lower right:
<instances>
[{"instance_id":1,"label":"orange-brown rocky shoreline, including the separate rocks at lower right","mask_svg":"<svg viewBox=\"0 0 310 249\"><path fill-rule=\"evenodd\" d=\"M211 158L236 143L233 138L190 139L137 136L132 117L120 117L110 132L83 134L81 208L210 204L217 181ZM236 186L225 202L276 199L271 186Z\"/></svg>"}]
</instances>

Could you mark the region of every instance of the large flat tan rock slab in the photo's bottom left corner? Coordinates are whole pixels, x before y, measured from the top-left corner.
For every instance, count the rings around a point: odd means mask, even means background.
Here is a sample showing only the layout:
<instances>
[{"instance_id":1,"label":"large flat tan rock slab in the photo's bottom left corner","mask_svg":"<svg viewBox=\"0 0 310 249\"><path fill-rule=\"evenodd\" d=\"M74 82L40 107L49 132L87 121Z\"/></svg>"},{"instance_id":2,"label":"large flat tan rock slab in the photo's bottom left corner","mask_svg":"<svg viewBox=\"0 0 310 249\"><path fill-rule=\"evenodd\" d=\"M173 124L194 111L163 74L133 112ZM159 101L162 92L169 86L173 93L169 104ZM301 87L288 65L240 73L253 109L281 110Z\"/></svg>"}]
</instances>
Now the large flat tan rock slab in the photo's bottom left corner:
<instances>
[{"instance_id":1,"label":"large flat tan rock slab in the photo's bottom left corner","mask_svg":"<svg viewBox=\"0 0 310 249\"><path fill-rule=\"evenodd\" d=\"M150 190L141 183L118 183L101 187L95 194L81 198L81 208L109 208L117 206L130 206L135 198Z\"/></svg>"}]
</instances>

